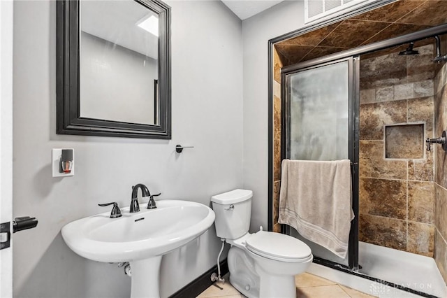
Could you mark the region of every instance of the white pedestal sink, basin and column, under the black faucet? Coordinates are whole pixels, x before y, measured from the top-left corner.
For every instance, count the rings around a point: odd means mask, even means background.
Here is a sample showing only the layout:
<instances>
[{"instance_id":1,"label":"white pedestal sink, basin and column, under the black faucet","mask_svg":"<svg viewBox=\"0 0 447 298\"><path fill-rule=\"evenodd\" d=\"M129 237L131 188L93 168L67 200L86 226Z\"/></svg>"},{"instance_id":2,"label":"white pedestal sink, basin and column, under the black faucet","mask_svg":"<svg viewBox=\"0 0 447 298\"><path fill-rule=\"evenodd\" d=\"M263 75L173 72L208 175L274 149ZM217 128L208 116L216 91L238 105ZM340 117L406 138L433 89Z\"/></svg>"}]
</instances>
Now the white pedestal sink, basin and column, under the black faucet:
<instances>
[{"instance_id":1,"label":"white pedestal sink, basin and column, under the black faucet","mask_svg":"<svg viewBox=\"0 0 447 298\"><path fill-rule=\"evenodd\" d=\"M140 212L122 208L75 220L62 228L62 237L75 253L98 262L129 262L131 298L160 297L161 257L196 239L214 222L214 212L191 201L159 200L156 209Z\"/></svg>"}]
</instances>

